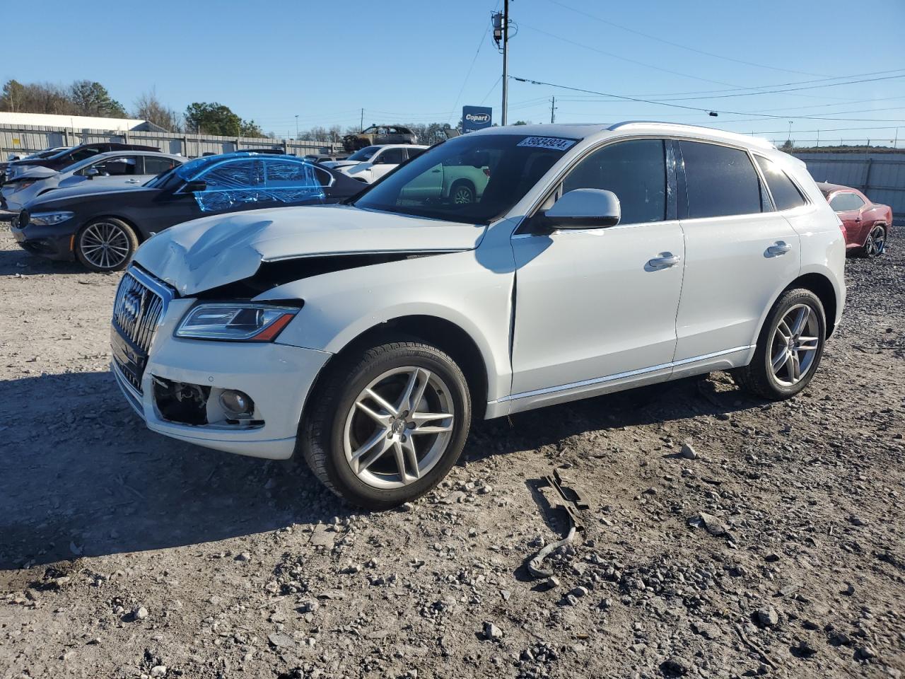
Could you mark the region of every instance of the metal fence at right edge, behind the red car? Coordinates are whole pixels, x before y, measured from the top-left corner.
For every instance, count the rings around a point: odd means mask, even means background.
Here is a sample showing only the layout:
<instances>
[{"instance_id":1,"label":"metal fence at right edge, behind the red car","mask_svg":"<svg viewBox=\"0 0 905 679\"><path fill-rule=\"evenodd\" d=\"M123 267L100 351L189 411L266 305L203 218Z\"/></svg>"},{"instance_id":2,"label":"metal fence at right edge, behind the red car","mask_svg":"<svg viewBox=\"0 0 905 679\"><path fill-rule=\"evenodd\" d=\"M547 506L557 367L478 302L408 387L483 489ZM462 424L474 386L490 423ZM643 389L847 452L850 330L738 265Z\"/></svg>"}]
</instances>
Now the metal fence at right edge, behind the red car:
<instances>
[{"instance_id":1,"label":"metal fence at right edge, behind the red car","mask_svg":"<svg viewBox=\"0 0 905 679\"><path fill-rule=\"evenodd\" d=\"M892 208L905 225L905 153L795 153L818 182L854 186L874 203Z\"/></svg>"}]
</instances>

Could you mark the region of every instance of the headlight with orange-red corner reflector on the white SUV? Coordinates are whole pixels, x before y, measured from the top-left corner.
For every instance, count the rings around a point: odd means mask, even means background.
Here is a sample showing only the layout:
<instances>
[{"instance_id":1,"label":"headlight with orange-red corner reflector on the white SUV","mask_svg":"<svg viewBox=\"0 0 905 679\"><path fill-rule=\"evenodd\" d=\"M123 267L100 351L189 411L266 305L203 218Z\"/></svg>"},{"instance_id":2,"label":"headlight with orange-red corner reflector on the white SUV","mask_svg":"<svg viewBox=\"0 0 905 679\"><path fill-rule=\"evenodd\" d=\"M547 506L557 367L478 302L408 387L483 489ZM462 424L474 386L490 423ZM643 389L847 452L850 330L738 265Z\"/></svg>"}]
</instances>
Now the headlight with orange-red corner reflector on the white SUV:
<instances>
[{"instance_id":1,"label":"headlight with orange-red corner reflector on the white SUV","mask_svg":"<svg viewBox=\"0 0 905 679\"><path fill-rule=\"evenodd\" d=\"M199 304L179 323L176 337L271 342L298 312L253 302Z\"/></svg>"}]
</instances>

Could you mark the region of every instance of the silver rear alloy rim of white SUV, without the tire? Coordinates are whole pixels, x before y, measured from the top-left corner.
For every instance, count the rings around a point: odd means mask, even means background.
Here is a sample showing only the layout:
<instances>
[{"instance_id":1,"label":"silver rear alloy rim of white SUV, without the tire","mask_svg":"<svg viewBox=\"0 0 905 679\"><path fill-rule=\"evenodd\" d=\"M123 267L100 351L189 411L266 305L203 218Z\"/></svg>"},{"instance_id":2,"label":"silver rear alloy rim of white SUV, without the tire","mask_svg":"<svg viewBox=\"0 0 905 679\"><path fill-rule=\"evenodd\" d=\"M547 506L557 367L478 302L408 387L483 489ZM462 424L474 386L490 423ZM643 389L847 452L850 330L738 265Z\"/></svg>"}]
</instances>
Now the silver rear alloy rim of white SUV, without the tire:
<instances>
[{"instance_id":1,"label":"silver rear alloy rim of white SUV, without the tire","mask_svg":"<svg viewBox=\"0 0 905 679\"><path fill-rule=\"evenodd\" d=\"M773 331L770 369L784 387L800 382L814 365L820 348L820 324L807 304L796 304L786 311Z\"/></svg>"}]
</instances>

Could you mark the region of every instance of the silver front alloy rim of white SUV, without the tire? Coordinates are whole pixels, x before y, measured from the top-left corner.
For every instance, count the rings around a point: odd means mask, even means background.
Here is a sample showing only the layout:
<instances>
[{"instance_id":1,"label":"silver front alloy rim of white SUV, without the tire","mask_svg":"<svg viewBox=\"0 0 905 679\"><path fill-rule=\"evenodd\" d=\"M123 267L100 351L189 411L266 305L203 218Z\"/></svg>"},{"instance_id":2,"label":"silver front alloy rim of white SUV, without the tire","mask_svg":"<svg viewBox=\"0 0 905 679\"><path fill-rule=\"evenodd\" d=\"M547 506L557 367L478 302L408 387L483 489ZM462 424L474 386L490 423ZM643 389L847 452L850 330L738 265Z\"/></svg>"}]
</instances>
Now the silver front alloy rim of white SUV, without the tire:
<instances>
[{"instance_id":1,"label":"silver front alloy rim of white SUV, without the tire","mask_svg":"<svg viewBox=\"0 0 905 679\"><path fill-rule=\"evenodd\" d=\"M349 409L346 461L375 488L414 483L443 457L454 419L452 393L435 372L393 368L362 389Z\"/></svg>"}]
</instances>

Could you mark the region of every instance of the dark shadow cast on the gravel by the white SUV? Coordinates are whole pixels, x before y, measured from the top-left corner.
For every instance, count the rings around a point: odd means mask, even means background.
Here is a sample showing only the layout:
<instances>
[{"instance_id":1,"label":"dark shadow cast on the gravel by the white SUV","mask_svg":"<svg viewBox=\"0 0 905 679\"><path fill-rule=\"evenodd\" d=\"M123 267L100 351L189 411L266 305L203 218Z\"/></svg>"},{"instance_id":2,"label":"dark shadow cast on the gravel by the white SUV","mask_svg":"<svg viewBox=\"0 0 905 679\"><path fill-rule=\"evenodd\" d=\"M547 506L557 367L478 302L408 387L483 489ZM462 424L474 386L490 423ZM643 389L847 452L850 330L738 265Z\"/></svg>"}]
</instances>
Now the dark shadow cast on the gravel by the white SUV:
<instances>
[{"instance_id":1,"label":"dark shadow cast on the gravel by the white SUV","mask_svg":"<svg viewBox=\"0 0 905 679\"><path fill-rule=\"evenodd\" d=\"M469 461L570 435L757 406L700 378L474 427ZM712 384L708 382L708 384ZM304 464L225 454L150 432L108 372L0 382L0 569L329 523L354 508ZM538 458L538 464L546 464Z\"/></svg>"}]
</instances>

